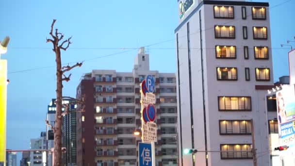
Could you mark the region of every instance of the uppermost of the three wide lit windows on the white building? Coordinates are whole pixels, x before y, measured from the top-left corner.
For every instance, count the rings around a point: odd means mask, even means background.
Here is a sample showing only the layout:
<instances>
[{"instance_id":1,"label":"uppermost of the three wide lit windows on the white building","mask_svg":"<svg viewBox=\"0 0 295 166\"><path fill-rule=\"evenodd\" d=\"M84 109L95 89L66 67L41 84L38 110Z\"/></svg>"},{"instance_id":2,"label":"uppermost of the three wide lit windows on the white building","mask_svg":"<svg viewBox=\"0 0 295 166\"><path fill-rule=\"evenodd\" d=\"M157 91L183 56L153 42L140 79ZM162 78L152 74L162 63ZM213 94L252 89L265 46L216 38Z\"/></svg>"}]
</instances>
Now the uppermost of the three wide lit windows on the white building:
<instances>
[{"instance_id":1,"label":"uppermost of the three wide lit windows on the white building","mask_svg":"<svg viewBox=\"0 0 295 166\"><path fill-rule=\"evenodd\" d=\"M219 111L251 111L250 97L218 97Z\"/></svg>"}]
</instances>

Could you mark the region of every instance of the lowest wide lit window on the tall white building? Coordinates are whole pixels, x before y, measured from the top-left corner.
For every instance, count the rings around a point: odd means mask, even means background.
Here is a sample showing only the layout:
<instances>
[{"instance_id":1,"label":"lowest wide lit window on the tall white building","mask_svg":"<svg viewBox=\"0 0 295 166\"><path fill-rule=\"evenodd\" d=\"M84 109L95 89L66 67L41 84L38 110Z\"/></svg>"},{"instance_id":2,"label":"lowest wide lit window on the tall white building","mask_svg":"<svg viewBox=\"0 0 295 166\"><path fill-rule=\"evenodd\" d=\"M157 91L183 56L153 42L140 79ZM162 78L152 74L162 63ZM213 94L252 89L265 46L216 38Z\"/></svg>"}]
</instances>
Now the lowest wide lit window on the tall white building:
<instances>
[{"instance_id":1,"label":"lowest wide lit window on the tall white building","mask_svg":"<svg viewBox=\"0 0 295 166\"><path fill-rule=\"evenodd\" d=\"M220 145L221 159L252 159L251 144Z\"/></svg>"}]
</instances>

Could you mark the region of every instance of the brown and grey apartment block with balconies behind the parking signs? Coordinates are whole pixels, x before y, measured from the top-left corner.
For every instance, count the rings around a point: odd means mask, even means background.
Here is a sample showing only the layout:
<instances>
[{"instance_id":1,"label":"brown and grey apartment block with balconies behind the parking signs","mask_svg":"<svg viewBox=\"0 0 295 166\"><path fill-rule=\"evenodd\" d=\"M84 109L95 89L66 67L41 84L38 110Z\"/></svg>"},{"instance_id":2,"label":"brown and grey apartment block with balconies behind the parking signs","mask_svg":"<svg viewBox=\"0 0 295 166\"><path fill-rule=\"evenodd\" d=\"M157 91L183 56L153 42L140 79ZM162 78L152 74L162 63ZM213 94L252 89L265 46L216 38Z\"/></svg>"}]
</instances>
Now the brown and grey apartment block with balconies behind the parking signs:
<instances>
[{"instance_id":1,"label":"brown and grey apartment block with balconies behind the parking signs","mask_svg":"<svg viewBox=\"0 0 295 166\"><path fill-rule=\"evenodd\" d=\"M177 166L177 102L174 73L149 70L145 48L138 51L132 72L92 70L82 77L77 99L85 94L86 110L77 113L77 166L137 166L133 132L141 127L140 83L156 82L157 166Z\"/></svg>"}]
</instances>

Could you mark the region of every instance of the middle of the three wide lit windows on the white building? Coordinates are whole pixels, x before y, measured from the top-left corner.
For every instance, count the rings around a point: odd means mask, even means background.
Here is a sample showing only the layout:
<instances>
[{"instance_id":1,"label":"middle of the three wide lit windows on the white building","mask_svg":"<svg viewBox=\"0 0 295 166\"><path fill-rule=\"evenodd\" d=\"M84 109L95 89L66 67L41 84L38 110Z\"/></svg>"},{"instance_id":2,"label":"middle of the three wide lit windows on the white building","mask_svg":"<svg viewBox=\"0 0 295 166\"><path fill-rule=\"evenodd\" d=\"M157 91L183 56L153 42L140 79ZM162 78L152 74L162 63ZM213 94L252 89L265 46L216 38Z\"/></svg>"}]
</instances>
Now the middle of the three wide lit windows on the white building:
<instances>
[{"instance_id":1,"label":"middle of the three wide lit windows on the white building","mask_svg":"<svg viewBox=\"0 0 295 166\"><path fill-rule=\"evenodd\" d=\"M219 133L223 134L251 134L250 120L219 120Z\"/></svg>"}]
</instances>

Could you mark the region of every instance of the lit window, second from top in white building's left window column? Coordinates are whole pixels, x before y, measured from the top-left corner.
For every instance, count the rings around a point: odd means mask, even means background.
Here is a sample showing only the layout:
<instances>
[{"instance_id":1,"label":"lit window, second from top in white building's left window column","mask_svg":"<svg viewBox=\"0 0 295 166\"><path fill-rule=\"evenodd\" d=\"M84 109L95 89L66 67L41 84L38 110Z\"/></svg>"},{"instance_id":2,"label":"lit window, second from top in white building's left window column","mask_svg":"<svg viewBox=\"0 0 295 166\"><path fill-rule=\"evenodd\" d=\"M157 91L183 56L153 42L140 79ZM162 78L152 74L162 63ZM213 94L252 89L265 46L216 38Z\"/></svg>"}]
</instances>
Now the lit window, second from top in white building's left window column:
<instances>
[{"instance_id":1,"label":"lit window, second from top in white building's left window column","mask_svg":"<svg viewBox=\"0 0 295 166\"><path fill-rule=\"evenodd\" d=\"M234 26L218 26L215 25L215 38L234 39L235 30Z\"/></svg>"}]
</instances>

